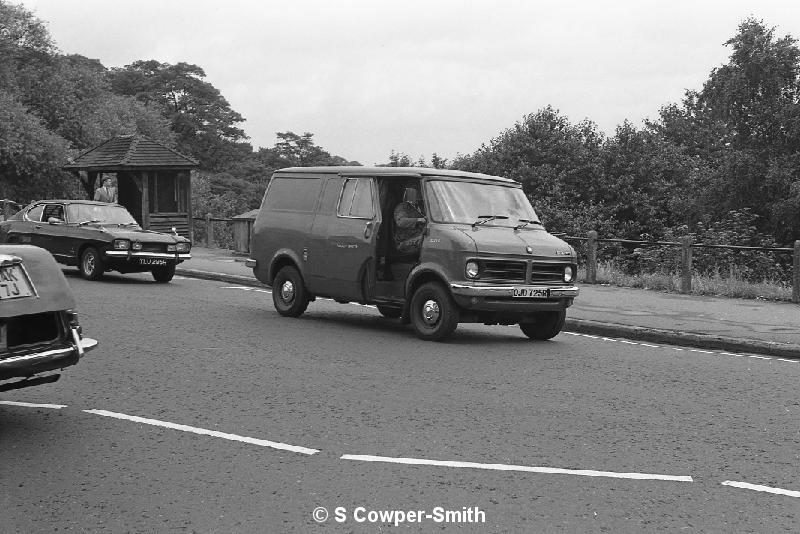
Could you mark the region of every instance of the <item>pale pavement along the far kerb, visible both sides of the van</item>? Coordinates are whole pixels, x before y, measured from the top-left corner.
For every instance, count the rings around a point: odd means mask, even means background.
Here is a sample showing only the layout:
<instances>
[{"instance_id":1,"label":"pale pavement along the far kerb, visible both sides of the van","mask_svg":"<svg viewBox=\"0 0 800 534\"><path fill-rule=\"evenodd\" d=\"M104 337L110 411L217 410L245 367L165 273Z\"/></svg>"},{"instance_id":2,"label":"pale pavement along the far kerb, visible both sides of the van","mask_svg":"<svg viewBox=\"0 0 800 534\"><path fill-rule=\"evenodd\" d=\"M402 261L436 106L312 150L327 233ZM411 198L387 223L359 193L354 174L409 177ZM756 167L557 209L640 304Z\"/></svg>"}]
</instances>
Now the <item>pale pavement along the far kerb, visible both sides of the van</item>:
<instances>
[{"instance_id":1,"label":"pale pavement along the far kerb, visible both sides of the van","mask_svg":"<svg viewBox=\"0 0 800 534\"><path fill-rule=\"evenodd\" d=\"M246 255L194 247L181 276L262 287ZM800 304L578 284L565 329L711 350L800 359Z\"/></svg>"}]
</instances>

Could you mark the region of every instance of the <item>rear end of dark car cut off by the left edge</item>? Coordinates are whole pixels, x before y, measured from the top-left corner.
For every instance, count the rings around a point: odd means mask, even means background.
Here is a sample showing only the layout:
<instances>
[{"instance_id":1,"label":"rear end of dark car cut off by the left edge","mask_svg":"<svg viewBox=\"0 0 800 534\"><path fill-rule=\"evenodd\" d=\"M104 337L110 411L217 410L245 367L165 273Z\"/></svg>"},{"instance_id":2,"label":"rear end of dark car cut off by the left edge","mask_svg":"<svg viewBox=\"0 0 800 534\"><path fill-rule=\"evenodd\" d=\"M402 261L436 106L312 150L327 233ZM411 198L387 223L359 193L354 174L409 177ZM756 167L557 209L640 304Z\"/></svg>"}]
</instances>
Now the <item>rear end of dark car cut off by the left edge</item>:
<instances>
[{"instance_id":1,"label":"rear end of dark car cut off by the left edge","mask_svg":"<svg viewBox=\"0 0 800 534\"><path fill-rule=\"evenodd\" d=\"M83 337L75 299L53 256L0 245L0 391L55 382L97 341ZM50 374L45 374L50 373Z\"/></svg>"}]
</instances>

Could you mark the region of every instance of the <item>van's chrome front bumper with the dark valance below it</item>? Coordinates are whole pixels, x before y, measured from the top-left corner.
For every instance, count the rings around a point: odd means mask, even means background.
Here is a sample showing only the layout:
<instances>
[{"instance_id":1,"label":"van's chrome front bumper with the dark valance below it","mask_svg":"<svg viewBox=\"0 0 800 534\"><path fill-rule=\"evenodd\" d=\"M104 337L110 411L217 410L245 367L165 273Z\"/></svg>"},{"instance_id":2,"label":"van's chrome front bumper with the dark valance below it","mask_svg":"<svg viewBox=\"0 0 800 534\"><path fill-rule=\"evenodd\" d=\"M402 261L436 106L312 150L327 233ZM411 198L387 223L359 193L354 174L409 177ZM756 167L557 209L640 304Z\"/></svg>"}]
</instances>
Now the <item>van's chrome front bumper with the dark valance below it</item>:
<instances>
[{"instance_id":1,"label":"van's chrome front bumper with the dark valance below it","mask_svg":"<svg viewBox=\"0 0 800 534\"><path fill-rule=\"evenodd\" d=\"M546 297L514 297L515 288L546 289ZM473 286L450 284L456 303L476 311L534 312L563 310L572 305L580 289L575 286Z\"/></svg>"}]
</instances>

